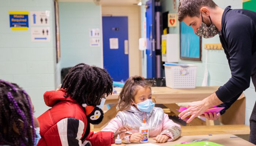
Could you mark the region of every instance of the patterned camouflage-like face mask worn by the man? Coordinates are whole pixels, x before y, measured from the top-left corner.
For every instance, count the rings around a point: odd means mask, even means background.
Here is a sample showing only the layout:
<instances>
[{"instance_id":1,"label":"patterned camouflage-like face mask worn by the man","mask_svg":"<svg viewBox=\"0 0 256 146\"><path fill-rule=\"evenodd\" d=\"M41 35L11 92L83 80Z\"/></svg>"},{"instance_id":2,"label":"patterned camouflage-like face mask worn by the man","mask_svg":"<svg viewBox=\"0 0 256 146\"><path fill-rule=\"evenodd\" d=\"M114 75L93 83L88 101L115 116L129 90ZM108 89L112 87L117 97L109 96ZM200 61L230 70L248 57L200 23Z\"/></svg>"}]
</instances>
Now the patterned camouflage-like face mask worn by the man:
<instances>
[{"instance_id":1,"label":"patterned camouflage-like face mask worn by the man","mask_svg":"<svg viewBox=\"0 0 256 146\"><path fill-rule=\"evenodd\" d=\"M201 16L202 16L202 13L201 13ZM209 16L209 18L210 18L210 16ZM211 18L210 18L210 20L211 20ZM202 16L202 23L201 23L200 27L198 28L198 30L196 31L196 35L207 39L207 38L214 37L218 33L219 33L219 31L217 30L215 25L212 24L212 22L211 22L210 27L206 26L206 24L203 22L203 16Z\"/></svg>"}]
</instances>

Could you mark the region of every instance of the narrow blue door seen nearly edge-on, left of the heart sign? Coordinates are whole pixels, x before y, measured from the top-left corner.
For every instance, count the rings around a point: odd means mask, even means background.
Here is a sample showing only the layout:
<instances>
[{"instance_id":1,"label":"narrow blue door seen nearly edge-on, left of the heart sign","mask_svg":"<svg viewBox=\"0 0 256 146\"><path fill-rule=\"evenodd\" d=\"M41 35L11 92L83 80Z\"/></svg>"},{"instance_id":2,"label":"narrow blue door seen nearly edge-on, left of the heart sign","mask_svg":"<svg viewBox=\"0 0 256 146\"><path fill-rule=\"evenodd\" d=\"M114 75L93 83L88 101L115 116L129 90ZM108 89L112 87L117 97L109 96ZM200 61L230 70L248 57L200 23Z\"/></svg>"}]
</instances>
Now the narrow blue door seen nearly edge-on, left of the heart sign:
<instances>
[{"instance_id":1,"label":"narrow blue door seen nearly edge-on, left of the heart sign","mask_svg":"<svg viewBox=\"0 0 256 146\"><path fill-rule=\"evenodd\" d=\"M147 29L147 78L155 77L155 1L146 2L146 29Z\"/></svg>"}]
</instances>

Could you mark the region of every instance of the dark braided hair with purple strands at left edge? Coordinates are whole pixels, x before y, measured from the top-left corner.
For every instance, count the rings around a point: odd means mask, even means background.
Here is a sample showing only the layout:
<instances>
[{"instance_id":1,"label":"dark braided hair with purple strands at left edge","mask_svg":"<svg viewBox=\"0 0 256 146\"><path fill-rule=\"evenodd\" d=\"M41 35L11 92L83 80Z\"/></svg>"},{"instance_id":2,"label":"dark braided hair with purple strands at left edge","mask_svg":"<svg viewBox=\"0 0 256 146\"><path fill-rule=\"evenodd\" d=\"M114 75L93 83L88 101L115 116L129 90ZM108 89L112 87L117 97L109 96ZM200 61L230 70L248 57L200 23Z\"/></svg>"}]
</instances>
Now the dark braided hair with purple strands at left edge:
<instances>
[{"instance_id":1,"label":"dark braided hair with purple strands at left edge","mask_svg":"<svg viewBox=\"0 0 256 146\"><path fill-rule=\"evenodd\" d=\"M0 145L34 145L33 111L29 98L17 84L0 80ZM18 128L18 133L14 127Z\"/></svg>"}]
</instances>

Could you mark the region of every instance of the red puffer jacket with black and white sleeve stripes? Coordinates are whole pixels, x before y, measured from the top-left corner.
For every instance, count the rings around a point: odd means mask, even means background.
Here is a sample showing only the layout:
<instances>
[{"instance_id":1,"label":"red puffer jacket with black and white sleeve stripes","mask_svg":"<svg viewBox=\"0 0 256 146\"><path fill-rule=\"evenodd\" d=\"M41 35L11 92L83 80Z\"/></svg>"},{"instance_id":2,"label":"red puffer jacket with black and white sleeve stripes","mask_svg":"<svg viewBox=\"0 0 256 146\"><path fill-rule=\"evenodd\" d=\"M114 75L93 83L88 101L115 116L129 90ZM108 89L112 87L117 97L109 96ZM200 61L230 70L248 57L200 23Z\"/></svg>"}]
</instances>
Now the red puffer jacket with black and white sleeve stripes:
<instances>
[{"instance_id":1,"label":"red puffer jacket with black and white sleeve stripes","mask_svg":"<svg viewBox=\"0 0 256 146\"><path fill-rule=\"evenodd\" d=\"M37 146L110 146L113 132L90 132L84 108L72 97L64 97L65 89L44 93L50 108L38 117L41 139Z\"/></svg>"}]
</instances>

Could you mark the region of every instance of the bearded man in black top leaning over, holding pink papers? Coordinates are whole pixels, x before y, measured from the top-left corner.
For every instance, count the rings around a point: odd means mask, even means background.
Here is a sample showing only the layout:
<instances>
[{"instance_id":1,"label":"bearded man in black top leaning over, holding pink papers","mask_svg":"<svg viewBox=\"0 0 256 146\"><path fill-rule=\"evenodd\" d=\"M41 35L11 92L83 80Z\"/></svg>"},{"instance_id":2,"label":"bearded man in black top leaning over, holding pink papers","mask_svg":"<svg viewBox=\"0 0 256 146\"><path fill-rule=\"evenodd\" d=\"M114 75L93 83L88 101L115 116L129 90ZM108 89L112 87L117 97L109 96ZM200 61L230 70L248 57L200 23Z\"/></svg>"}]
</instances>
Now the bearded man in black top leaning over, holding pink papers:
<instances>
[{"instance_id":1,"label":"bearded man in black top leaning over, holding pink papers","mask_svg":"<svg viewBox=\"0 0 256 146\"><path fill-rule=\"evenodd\" d=\"M196 35L212 38L219 34L224 48L231 78L215 93L202 101L188 104L180 113L181 119L192 115L187 123L202 115L205 110L218 105L229 108L249 88L250 78L256 86L256 12L245 9L222 9L212 0L180 0L178 20L191 26ZM206 114L207 119L217 119L221 114ZM256 104L250 118L249 141L256 144Z\"/></svg>"}]
</instances>

